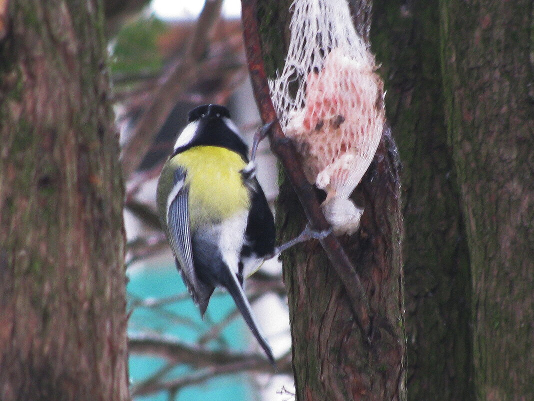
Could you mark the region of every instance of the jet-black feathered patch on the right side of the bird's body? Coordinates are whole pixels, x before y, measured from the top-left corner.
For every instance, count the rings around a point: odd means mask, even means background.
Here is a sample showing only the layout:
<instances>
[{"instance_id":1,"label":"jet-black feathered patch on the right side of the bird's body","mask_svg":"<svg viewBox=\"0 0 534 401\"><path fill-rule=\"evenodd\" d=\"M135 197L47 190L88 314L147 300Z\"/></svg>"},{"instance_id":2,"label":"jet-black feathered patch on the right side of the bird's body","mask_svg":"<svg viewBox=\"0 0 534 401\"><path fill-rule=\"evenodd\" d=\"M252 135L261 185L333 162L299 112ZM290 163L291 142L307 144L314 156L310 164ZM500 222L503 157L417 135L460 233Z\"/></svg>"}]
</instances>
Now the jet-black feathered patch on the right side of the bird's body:
<instances>
[{"instance_id":1,"label":"jet-black feathered patch on the right side of the bird's body","mask_svg":"<svg viewBox=\"0 0 534 401\"><path fill-rule=\"evenodd\" d=\"M252 207L248 214L245 236L247 241L241 249L241 257L254 255L258 259L274 252L274 219L260 184L255 180L257 190L252 193ZM240 264L242 268L242 264Z\"/></svg>"}]
</instances>

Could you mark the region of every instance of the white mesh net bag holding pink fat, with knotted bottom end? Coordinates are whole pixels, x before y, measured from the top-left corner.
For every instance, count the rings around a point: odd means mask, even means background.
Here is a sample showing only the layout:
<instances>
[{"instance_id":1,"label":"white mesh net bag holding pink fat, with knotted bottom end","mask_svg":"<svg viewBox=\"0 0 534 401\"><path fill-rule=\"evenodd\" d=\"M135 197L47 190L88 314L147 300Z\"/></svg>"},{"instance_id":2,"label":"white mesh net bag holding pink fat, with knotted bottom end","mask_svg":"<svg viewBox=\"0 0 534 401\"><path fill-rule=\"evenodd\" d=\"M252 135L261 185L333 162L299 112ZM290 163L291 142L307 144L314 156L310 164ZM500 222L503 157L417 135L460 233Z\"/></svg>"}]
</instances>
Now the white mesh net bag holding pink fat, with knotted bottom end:
<instances>
[{"instance_id":1,"label":"white mesh net bag holding pink fat, with knotted bottom end","mask_svg":"<svg viewBox=\"0 0 534 401\"><path fill-rule=\"evenodd\" d=\"M273 104L310 181L327 193L326 218L352 233L363 210L349 196L378 147L383 84L345 0L295 0L284 70L270 81Z\"/></svg>"}]
</instances>

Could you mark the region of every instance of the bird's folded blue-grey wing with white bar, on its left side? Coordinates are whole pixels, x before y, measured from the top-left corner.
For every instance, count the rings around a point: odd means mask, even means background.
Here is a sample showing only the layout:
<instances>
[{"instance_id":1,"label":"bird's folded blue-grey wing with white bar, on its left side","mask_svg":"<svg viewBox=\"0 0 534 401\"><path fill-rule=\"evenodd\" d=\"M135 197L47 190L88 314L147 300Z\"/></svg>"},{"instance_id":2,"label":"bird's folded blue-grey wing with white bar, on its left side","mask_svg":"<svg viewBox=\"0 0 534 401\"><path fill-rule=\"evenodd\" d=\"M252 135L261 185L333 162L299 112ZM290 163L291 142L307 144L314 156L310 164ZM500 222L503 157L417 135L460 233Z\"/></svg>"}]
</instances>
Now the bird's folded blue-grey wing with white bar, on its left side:
<instances>
[{"instance_id":1,"label":"bird's folded blue-grey wing with white bar, on its left side","mask_svg":"<svg viewBox=\"0 0 534 401\"><path fill-rule=\"evenodd\" d=\"M203 292L203 286L198 280L193 264L188 195L189 188L185 184L185 171L178 168L167 201L167 235L176 259L176 266L193 300L198 304L198 297Z\"/></svg>"}]
</instances>

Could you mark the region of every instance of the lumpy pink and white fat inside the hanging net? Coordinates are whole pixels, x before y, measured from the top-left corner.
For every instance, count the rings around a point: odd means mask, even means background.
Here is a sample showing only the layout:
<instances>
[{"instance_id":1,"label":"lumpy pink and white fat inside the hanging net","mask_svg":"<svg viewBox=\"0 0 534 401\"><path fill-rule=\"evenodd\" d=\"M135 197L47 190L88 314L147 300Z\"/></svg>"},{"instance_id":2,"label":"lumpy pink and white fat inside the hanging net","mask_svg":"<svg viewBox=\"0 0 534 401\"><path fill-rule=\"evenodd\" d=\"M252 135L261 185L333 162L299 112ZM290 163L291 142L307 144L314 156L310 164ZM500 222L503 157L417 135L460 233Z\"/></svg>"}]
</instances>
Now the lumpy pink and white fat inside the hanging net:
<instances>
[{"instance_id":1,"label":"lumpy pink and white fat inside the hanging net","mask_svg":"<svg viewBox=\"0 0 534 401\"><path fill-rule=\"evenodd\" d=\"M374 64L333 50L323 70L308 74L304 107L289 115L286 135L307 178L329 197L347 199L371 163L382 135L382 81Z\"/></svg>"}]
</instances>

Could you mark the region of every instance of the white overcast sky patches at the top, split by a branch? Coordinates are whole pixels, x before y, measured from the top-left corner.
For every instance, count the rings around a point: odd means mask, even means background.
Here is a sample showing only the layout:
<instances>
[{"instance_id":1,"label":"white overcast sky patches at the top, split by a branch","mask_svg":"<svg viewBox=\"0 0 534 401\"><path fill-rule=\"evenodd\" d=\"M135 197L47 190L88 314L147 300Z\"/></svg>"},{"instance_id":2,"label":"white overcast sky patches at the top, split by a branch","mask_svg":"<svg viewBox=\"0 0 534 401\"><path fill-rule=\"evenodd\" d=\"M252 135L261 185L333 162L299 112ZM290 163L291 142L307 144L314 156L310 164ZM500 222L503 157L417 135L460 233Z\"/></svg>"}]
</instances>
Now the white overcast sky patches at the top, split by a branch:
<instances>
[{"instance_id":1,"label":"white overcast sky patches at the top, split by a branch","mask_svg":"<svg viewBox=\"0 0 534 401\"><path fill-rule=\"evenodd\" d=\"M162 19L194 18L198 16L203 0L152 0L150 7ZM240 0L224 0L223 14L227 17L239 17Z\"/></svg>"}]
</instances>

